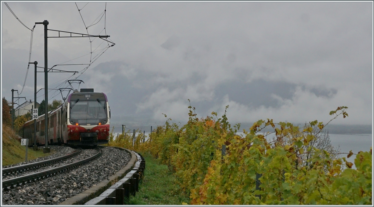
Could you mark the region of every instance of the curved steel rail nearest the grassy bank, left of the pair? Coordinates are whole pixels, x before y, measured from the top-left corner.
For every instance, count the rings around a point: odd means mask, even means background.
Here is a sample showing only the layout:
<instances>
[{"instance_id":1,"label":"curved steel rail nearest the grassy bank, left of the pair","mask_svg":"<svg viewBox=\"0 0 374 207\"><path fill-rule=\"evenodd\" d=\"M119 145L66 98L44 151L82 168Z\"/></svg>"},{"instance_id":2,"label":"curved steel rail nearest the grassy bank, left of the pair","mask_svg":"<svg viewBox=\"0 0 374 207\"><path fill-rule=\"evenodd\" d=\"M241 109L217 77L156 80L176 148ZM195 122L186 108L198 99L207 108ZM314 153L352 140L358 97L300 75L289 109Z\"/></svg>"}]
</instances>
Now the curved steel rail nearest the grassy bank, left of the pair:
<instances>
[{"instance_id":1,"label":"curved steel rail nearest the grassy bank, left of the pair","mask_svg":"<svg viewBox=\"0 0 374 207\"><path fill-rule=\"evenodd\" d=\"M53 159L50 159L50 160L43 160L43 161L39 161L39 162L35 162L35 163L4 168L3 171L2 171L2 174L4 176L4 175L9 175L10 173L13 173L15 171L25 172L30 168L43 167L43 166L46 166L46 165L54 164L56 162L63 161L63 160L66 160L70 157L76 156L76 155L80 154L81 152L82 152L82 148L78 148L77 151L74 151L70 154L67 154L67 155L64 155L64 156L61 156L61 157L56 157L56 158L53 158Z\"/></svg>"}]
</instances>

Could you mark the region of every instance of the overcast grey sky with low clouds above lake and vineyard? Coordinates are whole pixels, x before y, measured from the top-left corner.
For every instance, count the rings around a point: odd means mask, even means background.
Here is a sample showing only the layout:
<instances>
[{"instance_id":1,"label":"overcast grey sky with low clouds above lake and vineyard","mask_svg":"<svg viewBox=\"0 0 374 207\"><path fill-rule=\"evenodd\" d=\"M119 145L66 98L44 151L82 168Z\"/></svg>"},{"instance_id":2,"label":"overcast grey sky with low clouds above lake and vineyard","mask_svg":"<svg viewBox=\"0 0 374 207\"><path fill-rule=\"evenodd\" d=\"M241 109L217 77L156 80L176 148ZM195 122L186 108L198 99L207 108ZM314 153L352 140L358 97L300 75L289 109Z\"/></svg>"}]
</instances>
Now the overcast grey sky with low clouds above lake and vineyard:
<instances>
[{"instance_id":1,"label":"overcast grey sky with low clouds above lake and vineyard","mask_svg":"<svg viewBox=\"0 0 374 207\"><path fill-rule=\"evenodd\" d=\"M85 34L85 25L98 22L105 9L105 2L77 2L80 13L74 2L7 4L29 28L48 20L51 30ZM4 2L1 9L1 96L11 100L10 90L21 92L25 80L31 31ZM80 88L107 94L113 120L165 121L166 114L185 123L190 99L198 117L212 111L221 116L229 105L230 123L266 118L326 123L329 111L348 106L349 117L335 124L372 124L372 2L108 2L105 15L88 28L91 35L105 31L113 47L83 74L49 73L48 83L58 89L68 87L65 80L83 80ZM38 24L31 62L40 67L43 37ZM108 45L91 41L49 38L48 67L88 64ZM43 87L40 72L37 90ZM34 65L20 96L34 98ZM62 99L56 90L48 96Z\"/></svg>"}]
</instances>

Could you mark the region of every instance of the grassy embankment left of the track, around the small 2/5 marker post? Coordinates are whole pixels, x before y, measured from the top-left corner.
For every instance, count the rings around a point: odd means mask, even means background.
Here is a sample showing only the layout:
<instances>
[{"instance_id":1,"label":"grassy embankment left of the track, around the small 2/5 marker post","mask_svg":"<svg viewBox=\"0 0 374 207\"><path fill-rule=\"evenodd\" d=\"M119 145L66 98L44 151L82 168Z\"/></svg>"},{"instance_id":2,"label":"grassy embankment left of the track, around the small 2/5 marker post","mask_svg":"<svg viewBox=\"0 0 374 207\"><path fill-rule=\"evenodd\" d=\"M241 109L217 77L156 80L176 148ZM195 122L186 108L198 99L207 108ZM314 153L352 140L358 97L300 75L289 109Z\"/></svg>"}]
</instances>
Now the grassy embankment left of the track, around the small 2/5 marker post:
<instances>
[{"instance_id":1,"label":"grassy embankment left of the track, around the small 2/5 marker post","mask_svg":"<svg viewBox=\"0 0 374 207\"><path fill-rule=\"evenodd\" d=\"M2 166L17 164L25 161L26 148L21 145L16 133L8 126L3 125L2 142L3 142L3 162ZM38 157L48 156L50 153L43 154L43 150L34 151L29 147L27 150L27 161L34 160Z\"/></svg>"}]
</instances>

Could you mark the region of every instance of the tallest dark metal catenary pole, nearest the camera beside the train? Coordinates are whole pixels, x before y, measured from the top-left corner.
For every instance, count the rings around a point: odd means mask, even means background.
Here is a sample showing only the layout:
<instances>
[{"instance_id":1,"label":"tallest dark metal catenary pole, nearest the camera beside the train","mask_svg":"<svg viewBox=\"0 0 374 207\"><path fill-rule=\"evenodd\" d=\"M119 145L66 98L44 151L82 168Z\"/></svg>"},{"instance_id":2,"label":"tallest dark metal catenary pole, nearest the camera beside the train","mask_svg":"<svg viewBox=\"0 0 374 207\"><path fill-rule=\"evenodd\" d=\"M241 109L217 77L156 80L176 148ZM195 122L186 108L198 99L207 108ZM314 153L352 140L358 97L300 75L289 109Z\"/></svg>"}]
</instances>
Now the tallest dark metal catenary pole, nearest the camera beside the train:
<instances>
[{"instance_id":1,"label":"tallest dark metal catenary pole, nearest the camera beside the train","mask_svg":"<svg viewBox=\"0 0 374 207\"><path fill-rule=\"evenodd\" d=\"M48 24L47 20L43 21L44 25L44 94L45 94L45 149L43 150L44 153L49 152L48 148L48 41L47 41L47 32L48 32Z\"/></svg>"}]
</instances>

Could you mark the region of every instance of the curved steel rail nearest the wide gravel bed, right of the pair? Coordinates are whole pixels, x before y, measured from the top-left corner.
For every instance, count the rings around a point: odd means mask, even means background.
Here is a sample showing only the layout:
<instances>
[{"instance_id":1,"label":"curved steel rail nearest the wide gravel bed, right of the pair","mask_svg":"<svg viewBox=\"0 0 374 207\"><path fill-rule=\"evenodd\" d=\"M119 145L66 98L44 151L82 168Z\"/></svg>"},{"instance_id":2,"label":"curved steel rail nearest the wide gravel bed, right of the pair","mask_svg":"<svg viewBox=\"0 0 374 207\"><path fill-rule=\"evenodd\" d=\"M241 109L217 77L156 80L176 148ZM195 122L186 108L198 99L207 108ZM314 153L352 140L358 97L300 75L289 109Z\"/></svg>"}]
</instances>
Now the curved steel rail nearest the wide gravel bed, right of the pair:
<instances>
[{"instance_id":1,"label":"curved steel rail nearest the wide gravel bed, right of the pair","mask_svg":"<svg viewBox=\"0 0 374 207\"><path fill-rule=\"evenodd\" d=\"M26 182L30 183L30 182L33 182L35 180L40 180L40 179L43 179L45 177L55 175L57 173L66 172L69 169L76 168L78 166L86 164L86 163L100 157L101 154L102 154L101 149L96 147L96 151L98 151L98 153L96 153L95 155L93 155L91 157L88 157L86 159L80 160L80 161L76 161L74 163L70 163L70 164L67 164L67 165L64 165L64 166L60 166L60 167L56 167L56 168L53 168L53 169L45 170L45 171L42 171L42 172L37 172L37 173L33 173L33 174L28 174L28 175L25 175L25 176L20 176L20 177L15 177L15 178L8 179L8 180L3 180L1 188L5 190L8 187L13 188L13 187L15 187L15 185L20 186L21 183L22 184L24 184Z\"/></svg>"}]
</instances>

